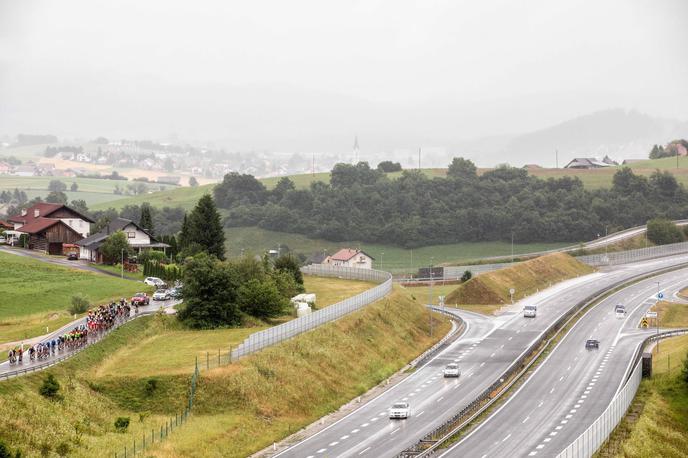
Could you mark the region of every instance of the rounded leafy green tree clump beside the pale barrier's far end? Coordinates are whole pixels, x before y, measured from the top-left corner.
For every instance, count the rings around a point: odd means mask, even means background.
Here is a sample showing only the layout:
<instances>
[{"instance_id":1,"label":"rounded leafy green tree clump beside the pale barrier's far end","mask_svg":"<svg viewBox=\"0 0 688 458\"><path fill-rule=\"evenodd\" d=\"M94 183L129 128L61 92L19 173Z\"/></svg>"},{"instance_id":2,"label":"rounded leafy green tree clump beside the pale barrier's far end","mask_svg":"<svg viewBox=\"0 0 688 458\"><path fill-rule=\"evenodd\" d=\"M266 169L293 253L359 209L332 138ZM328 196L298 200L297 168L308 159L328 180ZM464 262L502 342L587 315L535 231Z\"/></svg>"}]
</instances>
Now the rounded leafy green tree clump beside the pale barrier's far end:
<instances>
[{"instance_id":1,"label":"rounded leafy green tree clump beside the pale barrier's far end","mask_svg":"<svg viewBox=\"0 0 688 458\"><path fill-rule=\"evenodd\" d=\"M221 261L206 253L188 258L180 320L207 329L237 326L249 316L270 319L284 314L289 298L303 292L303 285L290 268L277 264L252 257Z\"/></svg>"}]
</instances>

